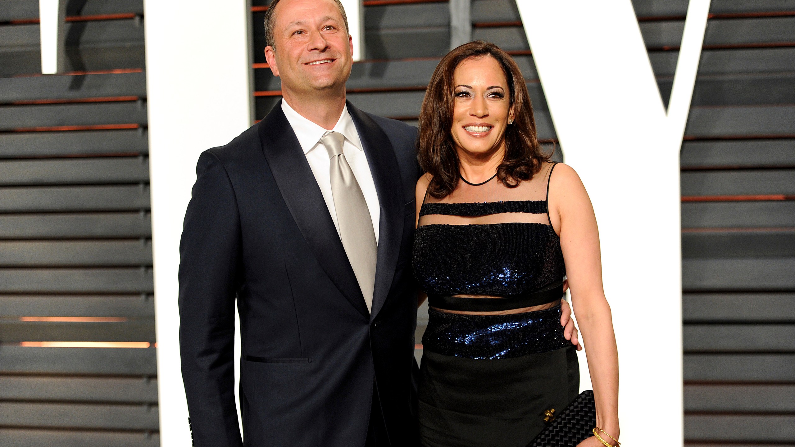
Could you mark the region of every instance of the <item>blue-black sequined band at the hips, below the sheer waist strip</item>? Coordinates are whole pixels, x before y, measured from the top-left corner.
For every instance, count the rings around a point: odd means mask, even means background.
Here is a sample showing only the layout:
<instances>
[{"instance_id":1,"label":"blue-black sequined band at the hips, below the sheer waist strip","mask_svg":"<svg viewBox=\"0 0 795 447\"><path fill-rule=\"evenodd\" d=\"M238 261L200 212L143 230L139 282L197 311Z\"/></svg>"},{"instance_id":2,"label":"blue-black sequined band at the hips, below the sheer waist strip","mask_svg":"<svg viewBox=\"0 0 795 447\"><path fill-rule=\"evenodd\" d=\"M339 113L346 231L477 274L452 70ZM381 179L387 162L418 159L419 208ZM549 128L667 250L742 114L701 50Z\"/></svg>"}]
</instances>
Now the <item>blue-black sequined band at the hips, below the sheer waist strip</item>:
<instances>
[{"instance_id":1,"label":"blue-black sequined band at the hips, below the sheer waist strip","mask_svg":"<svg viewBox=\"0 0 795 447\"><path fill-rule=\"evenodd\" d=\"M433 324L422 336L423 348L444 356L510 359L569 346L560 325L560 305L510 315L467 315L430 309L429 318Z\"/></svg>"}]
</instances>

